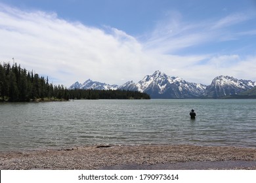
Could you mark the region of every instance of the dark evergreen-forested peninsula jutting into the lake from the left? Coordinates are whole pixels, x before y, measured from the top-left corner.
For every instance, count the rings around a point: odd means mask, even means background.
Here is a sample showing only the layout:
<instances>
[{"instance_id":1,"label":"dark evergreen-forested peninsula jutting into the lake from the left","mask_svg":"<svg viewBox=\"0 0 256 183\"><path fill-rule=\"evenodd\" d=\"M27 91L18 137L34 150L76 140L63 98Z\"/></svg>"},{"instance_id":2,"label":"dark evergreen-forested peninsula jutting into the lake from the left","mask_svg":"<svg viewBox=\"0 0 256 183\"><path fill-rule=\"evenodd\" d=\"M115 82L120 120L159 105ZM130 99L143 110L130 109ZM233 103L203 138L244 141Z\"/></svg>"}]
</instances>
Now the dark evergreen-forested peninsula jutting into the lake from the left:
<instances>
[{"instance_id":1,"label":"dark evergreen-forested peninsula jutting into the lake from the left","mask_svg":"<svg viewBox=\"0 0 256 183\"><path fill-rule=\"evenodd\" d=\"M0 101L68 101L70 99L150 99L146 93L125 90L68 90L14 63L0 63Z\"/></svg>"}]
</instances>

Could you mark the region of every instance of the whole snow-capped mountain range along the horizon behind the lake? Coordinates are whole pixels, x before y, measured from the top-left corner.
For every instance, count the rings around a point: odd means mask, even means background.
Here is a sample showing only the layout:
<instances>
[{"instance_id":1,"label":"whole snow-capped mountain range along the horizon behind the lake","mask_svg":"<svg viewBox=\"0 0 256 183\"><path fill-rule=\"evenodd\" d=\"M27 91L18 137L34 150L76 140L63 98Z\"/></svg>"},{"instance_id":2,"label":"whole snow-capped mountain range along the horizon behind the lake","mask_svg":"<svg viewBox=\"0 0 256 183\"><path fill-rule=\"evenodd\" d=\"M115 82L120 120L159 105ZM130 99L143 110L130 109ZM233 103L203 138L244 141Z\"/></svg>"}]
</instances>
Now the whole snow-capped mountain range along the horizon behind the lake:
<instances>
[{"instance_id":1,"label":"whole snow-capped mountain range along the horizon behind the lake","mask_svg":"<svg viewBox=\"0 0 256 183\"><path fill-rule=\"evenodd\" d=\"M217 76L209 86L187 82L182 78L167 76L161 71L146 75L137 84L133 81L121 86L110 85L93 80L86 80L83 84L75 82L70 90L131 90L148 93L155 99L190 99L190 98L220 98L229 95L240 95L256 87L256 82L251 80L238 80L231 76ZM252 90L255 91L255 90Z\"/></svg>"}]
</instances>

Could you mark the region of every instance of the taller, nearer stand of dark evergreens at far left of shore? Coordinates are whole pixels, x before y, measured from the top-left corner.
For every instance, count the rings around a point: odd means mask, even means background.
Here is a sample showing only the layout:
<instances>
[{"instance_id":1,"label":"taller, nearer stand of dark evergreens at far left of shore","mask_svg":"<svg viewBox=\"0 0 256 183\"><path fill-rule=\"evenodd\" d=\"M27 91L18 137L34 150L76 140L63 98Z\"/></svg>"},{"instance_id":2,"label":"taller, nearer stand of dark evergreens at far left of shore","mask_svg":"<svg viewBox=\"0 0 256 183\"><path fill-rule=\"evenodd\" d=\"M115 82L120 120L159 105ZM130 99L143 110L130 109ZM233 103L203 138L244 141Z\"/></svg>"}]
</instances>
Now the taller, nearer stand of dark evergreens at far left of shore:
<instances>
[{"instance_id":1,"label":"taller, nearer stand of dark evergreens at far left of shore","mask_svg":"<svg viewBox=\"0 0 256 183\"><path fill-rule=\"evenodd\" d=\"M68 99L64 86L49 84L33 71L22 69L14 63L0 63L0 99L1 101L34 101L36 99Z\"/></svg>"}]
</instances>

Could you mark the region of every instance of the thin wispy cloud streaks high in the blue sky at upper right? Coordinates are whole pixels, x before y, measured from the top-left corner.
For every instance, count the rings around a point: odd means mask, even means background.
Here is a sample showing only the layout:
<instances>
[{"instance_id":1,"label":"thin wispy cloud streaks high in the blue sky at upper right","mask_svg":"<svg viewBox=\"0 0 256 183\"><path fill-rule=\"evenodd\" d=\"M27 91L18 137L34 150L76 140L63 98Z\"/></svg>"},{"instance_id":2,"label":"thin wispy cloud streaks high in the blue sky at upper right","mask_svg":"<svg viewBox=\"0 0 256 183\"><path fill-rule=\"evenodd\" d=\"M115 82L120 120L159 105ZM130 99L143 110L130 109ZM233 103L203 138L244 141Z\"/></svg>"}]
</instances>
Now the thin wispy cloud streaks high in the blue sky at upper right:
<instances>
[{"instance_id":1,"label":"thin wispy cloud streaks high in the blue sky at upper right","mask_svg":"<svg viewBox=\"0 0 256 183\"><path fill-rule=\"evenodd\" d=\"M188 22L181 14L171 12L165 20L156 25L145 41L145 48L158 50L163 54L176 54L184 48L213 42L240 39L243 35L255 35L255 29L236 32L232 25L239 25L255 18L255 13L234 13L224 18ZM240 27L241 28L241 27Z\"/></svg>"}]
</instances>

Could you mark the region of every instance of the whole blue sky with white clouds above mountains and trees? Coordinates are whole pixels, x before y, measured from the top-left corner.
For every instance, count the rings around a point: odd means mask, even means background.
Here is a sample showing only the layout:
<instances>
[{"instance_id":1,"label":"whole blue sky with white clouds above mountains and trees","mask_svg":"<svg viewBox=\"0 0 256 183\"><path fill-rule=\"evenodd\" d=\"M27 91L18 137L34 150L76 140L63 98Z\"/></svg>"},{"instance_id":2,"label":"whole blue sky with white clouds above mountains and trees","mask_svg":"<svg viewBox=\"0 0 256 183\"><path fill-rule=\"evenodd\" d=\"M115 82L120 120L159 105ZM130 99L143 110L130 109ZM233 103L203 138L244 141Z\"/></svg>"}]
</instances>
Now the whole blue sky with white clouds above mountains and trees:
<instances>
[{"instance_id":1,"label":"whole blue sky with white clouds above mountains and trees","mask_svg":"<svg viewBox=\"0 0 256 183\"><path fill-rule=\"evenodd\" d=\"M0 61L53 84L256 81L256 0L0 0ZM12 59L13 58L13 59Z\"/></svg>"}]
</instances>

